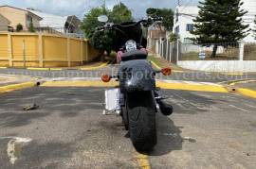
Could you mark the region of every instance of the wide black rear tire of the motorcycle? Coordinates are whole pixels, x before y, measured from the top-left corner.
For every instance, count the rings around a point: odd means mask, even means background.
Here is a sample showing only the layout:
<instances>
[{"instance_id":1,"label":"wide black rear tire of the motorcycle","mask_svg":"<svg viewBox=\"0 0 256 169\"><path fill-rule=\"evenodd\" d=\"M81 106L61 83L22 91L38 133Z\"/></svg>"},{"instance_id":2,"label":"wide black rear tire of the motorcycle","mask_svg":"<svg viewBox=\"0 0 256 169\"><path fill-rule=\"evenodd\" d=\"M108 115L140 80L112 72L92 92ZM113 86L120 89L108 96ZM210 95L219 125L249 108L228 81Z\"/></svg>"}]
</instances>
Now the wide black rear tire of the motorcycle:
<instances>
[{"instance_id":1,"label":"wide black rear tire of the motorcycle","mask_svg":"<svg viewBox=\"0 0 256 169\"><path fill-rule=\"evenodd\" d=\"M157 140L153 94L139 92L128 96L130 138L137 151L150 151Z\"/></svg>"}]
</instances>

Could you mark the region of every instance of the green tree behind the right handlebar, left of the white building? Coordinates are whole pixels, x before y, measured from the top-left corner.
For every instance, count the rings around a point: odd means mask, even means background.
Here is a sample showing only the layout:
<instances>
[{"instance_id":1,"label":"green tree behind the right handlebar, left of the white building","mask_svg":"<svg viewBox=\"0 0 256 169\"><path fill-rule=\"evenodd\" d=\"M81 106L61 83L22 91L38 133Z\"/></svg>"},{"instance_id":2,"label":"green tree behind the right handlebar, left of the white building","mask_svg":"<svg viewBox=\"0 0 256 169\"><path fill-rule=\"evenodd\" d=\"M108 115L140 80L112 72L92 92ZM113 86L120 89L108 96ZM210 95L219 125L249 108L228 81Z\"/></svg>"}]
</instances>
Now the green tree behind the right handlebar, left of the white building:
<instances>
[{"instance_id":1,"label":"green tree behind the right handlebar, left of the white building","mask_svg":"<svg viewBox=\"0 0 256 169\"><path fill-rule=\"evenodd\" d=\"M171 8L148 8L147 15L151 17L163 17L162 25L166 30L172 30L174 26L174 11Z\"/></svg>"}]
</instances>

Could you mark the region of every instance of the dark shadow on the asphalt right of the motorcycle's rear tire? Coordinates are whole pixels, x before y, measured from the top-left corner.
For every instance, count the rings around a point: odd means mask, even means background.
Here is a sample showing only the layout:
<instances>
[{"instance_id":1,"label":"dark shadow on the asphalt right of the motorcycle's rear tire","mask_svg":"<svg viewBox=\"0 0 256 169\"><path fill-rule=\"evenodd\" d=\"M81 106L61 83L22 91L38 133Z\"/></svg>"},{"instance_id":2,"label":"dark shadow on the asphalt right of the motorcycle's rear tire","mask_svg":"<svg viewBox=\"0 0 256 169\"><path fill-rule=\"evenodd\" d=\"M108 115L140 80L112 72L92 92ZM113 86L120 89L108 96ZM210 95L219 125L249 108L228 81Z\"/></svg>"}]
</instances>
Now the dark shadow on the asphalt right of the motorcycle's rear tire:
<instances>
[{"instance_id":1,"label":"dark shadow on the asphalt right of the motorcycle's rear tire","mask_svg":"<svg viewBox=\"0 0 256 169\"><path fill-rule=\"evenodd\" d=\"M181 150L184 139L180 136L182 127L176 127L170 117L156 114L157 144L148 152L149 156L169 154L173 150Z\"/></svg>"}]
</instances>

